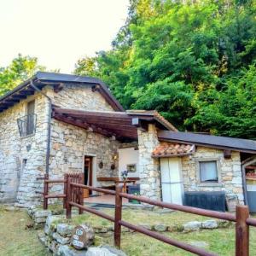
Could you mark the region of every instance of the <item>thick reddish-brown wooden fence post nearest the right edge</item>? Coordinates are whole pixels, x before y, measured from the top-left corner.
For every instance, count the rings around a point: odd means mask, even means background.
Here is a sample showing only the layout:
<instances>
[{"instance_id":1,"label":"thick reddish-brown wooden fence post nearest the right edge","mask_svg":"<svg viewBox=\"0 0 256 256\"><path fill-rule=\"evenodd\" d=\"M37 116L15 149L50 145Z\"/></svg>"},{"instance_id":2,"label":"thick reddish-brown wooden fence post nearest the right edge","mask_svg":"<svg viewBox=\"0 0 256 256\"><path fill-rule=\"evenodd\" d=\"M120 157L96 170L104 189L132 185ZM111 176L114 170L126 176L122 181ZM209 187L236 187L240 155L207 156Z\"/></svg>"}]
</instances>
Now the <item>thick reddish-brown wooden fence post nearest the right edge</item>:
<instances>
[{"instance_id":1,"label":"thick reddish-brown wooden fence post nearest the right edge","mask_svg":"<svg viewBox=\"0 0 256 256\"><path fill-rule=\"evenodd\" d=\"M249 218L247 206L236 206L236 256L249 255Z\"/></svg>"}]
</instances>

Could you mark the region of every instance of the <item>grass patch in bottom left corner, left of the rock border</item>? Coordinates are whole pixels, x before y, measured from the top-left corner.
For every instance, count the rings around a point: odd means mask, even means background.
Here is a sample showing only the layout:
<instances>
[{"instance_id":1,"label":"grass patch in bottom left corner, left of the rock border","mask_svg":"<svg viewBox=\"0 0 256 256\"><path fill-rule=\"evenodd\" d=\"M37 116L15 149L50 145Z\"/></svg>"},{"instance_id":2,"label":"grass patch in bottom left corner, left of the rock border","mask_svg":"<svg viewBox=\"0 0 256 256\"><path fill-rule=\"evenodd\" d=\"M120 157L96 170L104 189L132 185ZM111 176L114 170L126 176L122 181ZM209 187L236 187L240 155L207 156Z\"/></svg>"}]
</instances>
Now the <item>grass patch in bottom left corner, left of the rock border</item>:
<instances>
[{"instance_id":1,"label":"grass patch in bottom left corner, left of the rock border","mask_svg":"<svg viewBox=\"0 0 256 256\"><path fill-rule=\"evenodd\" d=\"M49 255L38 241L37 231L26 230L31 219L26 211L7 212L0 207L0 255L43 256Z\"/></svg>"}]
</instances>

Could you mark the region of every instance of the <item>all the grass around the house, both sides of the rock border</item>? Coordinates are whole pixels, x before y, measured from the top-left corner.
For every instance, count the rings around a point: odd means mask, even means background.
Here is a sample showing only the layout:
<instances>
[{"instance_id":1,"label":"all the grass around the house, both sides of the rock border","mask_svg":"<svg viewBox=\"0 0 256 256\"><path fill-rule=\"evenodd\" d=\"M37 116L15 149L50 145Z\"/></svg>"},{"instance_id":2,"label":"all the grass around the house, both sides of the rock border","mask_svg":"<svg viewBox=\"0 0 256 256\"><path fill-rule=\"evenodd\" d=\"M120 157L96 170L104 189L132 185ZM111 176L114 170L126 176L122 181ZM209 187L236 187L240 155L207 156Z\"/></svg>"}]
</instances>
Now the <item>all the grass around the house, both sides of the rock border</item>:
<instances>
[{"instance_id":1,"label":"all the grass around the house, both sides of the rock border","mask_svg":"<svg viewBox=\"0 0 256 256\"><path fill-rule=\"evenodd\" d=\"M104 209L113 215L113 209ZM183 224L191 220L204 220L205 217L182 212L148 212L143 210L123 210L123 219L132 224ZM113 225L103 218L90 213L73 215L73 224L90 223L94 226ZM38 241L36 230L26 230L26 224L31 223L26 211L7 212L0 207L0 256L50 255ZM175 232L164 233L178 241L205 241L209 245L207 250L219 255L235 255L235 229L233 227L218 230L201 230L192 233ZM250 229L250 255L256 255L256 228ZM113 245L113 236L102 237L96 235L97 244ZM181 249L169 246L138 233L123 233L121 248L128 256L167 256L192 255Z\"/></svg>"}]
</instances>

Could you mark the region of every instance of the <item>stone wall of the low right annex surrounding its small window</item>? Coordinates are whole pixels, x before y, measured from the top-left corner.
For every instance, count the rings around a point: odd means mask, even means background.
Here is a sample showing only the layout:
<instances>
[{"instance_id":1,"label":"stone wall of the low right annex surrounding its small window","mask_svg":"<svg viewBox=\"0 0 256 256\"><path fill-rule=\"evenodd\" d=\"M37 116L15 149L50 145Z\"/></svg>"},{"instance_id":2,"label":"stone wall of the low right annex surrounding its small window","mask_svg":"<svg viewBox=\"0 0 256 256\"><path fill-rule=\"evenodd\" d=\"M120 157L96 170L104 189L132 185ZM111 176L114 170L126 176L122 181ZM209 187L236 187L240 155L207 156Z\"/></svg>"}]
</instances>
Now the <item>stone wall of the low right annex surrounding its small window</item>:
<instances>
[{"instance_id":1,"label":"stone wall of the low right annex surrounding its small window","mask_svg":"<svg viewBox=\"0 0 256 256\"><path fill-rule=\"evenodd\" d=\"M196 161L216 159L219 162L219 183L209 185L200 183ZM238 197L243 204L240 153L232 151L230 159L224 159L224 152L217 148L197 147L195 154L182 158L183 183L185 191L225 191L228 198Z\"/></svg>"}]
</instances>

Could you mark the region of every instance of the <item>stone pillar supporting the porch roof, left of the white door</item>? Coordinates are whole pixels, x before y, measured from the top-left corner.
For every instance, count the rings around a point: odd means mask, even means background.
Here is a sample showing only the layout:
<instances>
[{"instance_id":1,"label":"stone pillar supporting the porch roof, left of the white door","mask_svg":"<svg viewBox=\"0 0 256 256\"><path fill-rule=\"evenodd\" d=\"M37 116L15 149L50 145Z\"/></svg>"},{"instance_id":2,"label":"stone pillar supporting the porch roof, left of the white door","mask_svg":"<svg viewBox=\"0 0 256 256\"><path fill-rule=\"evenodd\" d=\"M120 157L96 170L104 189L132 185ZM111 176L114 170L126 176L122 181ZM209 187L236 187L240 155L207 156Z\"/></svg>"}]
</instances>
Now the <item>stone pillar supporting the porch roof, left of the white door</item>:
<instances>
[{"instance_id":1,"label":"stone pillar supporting the porch roof, left of the white door","mask_svg":"<svg viewBox=\"0 0 256 256\"><path fill-rule=\"evenodd\" d=\"M159 144L154 125L148 125L148 131L138 129L139 173L141 195L151 199L160 199L160 166L159 160L151 157L154 148Z\"/></svg>"}]
</instances>

